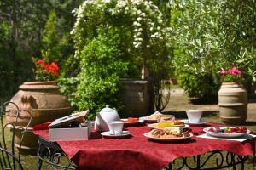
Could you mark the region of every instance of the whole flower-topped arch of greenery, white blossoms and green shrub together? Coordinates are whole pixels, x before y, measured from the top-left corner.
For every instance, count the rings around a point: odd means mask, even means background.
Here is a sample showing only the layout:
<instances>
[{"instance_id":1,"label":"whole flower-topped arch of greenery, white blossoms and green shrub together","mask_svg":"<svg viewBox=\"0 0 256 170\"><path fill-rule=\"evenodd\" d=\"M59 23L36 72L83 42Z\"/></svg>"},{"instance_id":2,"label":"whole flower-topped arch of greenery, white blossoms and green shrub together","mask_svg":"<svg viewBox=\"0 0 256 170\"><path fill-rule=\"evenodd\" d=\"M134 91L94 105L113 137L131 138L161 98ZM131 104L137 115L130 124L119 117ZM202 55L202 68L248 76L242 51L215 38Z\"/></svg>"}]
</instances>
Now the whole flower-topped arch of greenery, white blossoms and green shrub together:
<instances>
[{"instance_id":1,"label":"whole flower-topped arch of greenery, white blossoms and green shrub together","mask_svg":"<svg viewBox=\"0 0 256 170\"><path fill-rule=\"evenodd\" d=\"M152 1L85 0L73 13L77 17L71 31L76 48L73 60L81 68L80 110L96 111L104 104L119 109L119 77L140 77L144 65L156 80L171 70L166 64L172 52L169 28Z\"/></svg>"}]
</instances>

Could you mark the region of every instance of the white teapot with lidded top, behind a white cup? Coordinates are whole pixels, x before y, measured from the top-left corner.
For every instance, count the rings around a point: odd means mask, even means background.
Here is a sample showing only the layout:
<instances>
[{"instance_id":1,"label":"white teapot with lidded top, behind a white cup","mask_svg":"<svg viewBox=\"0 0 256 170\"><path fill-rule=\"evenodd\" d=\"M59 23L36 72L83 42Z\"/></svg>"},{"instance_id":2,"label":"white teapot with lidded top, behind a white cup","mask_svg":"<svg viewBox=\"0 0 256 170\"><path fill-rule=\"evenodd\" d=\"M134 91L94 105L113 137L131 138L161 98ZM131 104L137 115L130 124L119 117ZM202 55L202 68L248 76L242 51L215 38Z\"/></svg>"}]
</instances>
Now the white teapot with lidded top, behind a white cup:
<instances>
[{"instance_id":1,"label":"white teapot with lidded top, behind a white cup","mask_svg":"<svg viewBox=\"0 0 256 170\"><path fill-rule=\"evenodd\" d=\"M115 109L109 108L106 105L99 113L96 113L94 128L97 131L109 131L108 122L120 121L120 116Z\"/></svg>"}]
</instances>

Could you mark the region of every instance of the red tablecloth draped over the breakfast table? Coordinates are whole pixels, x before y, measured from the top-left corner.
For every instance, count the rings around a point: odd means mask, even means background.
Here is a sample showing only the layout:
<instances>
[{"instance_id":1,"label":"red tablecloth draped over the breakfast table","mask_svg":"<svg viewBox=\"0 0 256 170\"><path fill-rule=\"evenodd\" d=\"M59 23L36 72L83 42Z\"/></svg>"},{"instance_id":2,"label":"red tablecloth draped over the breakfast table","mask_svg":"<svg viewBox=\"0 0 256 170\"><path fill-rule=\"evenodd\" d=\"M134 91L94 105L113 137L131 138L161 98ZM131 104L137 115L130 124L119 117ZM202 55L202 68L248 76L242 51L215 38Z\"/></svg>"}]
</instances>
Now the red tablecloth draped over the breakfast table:
<instances>
[{"instance_id":1,"label":"red tablecloth draped over the breakfast table","mask_svg":"<svg viewBox=\"0 0 256 170\"><path fill-rule=\"evenodd\" d=\"M212 126L212 123L208 123ZM44 127L44 126L43 126ZM191 133L203 127L191 127ZM127 127L131 138L105 139L100 133L93 132L87 141L57 142L80 169L147 169L166 167L179 156L196 156L212 150L226 150L236 155L253 155L254 139L240 143L223 139L202 139L193 136L178 143L158 143L148 140L143 133L150 131L147 126ZM48 139L47 130L34 133Z\"/></svg>"}]
</instances>

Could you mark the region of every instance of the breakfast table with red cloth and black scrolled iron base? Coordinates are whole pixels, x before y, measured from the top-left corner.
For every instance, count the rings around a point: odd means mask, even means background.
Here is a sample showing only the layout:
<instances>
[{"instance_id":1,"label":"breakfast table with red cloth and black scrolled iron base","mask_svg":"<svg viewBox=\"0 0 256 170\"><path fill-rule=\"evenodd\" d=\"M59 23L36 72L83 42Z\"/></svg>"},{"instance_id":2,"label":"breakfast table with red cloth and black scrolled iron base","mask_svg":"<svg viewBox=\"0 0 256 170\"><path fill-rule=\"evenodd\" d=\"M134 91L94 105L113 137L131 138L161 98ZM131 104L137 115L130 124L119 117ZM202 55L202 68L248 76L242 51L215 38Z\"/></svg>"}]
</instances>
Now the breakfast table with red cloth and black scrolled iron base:
<instances>
[{"instance_id":1,"label":"breakfast table with red cloth and black scrolled iron base","mask_svg":"<svg viewBox=\"0 0 256 170\"><path fill-rule=\"evenodd\" d=\"M34 127L33 133L48 141L48 125L49 122ZM201 138L205 134L204 128L216 126L221 125L206 122L199 127L190 126L186 128L191 134L188 139L158 141L148 139L144 134L150 132L151 128L146 122L139 122L125 126L124 130L131 135L122 138L104 137L93 130L88 140L56 141L53 144L58 145L79 169L172 169L177 159L182 161L177 169L236 169L238 165L244 169L248 156L255 155L255 136L242 142ZM213 167L205 167L213 156L216 161ZM194 165L189 164L189 157L195 161Z\"/></svg>"}]
</instances>

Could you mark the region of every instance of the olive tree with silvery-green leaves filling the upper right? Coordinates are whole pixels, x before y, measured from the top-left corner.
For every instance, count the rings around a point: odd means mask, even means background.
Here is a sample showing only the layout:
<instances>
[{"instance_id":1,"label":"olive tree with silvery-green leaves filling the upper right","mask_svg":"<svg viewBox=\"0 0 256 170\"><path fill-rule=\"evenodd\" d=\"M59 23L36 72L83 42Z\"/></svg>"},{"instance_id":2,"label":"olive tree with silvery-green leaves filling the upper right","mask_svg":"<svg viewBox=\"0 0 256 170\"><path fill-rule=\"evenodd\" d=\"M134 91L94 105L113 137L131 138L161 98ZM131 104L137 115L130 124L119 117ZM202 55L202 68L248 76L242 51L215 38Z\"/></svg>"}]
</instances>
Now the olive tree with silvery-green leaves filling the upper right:
<instances>
[{"instance_id":1,"label":"olive tree with silvery-green leaves filling the upper right","mask_svg":"<svg viewBox=\"0 0 256 170\"><path fill-rule=\"evenodd\" d=\"M216 95L219 71L231 66L255 80L254 1L173 0L170 4L174 65L189 94ZM195 78L189 80L189 75Z\"/></svg>"}]
</instances>

